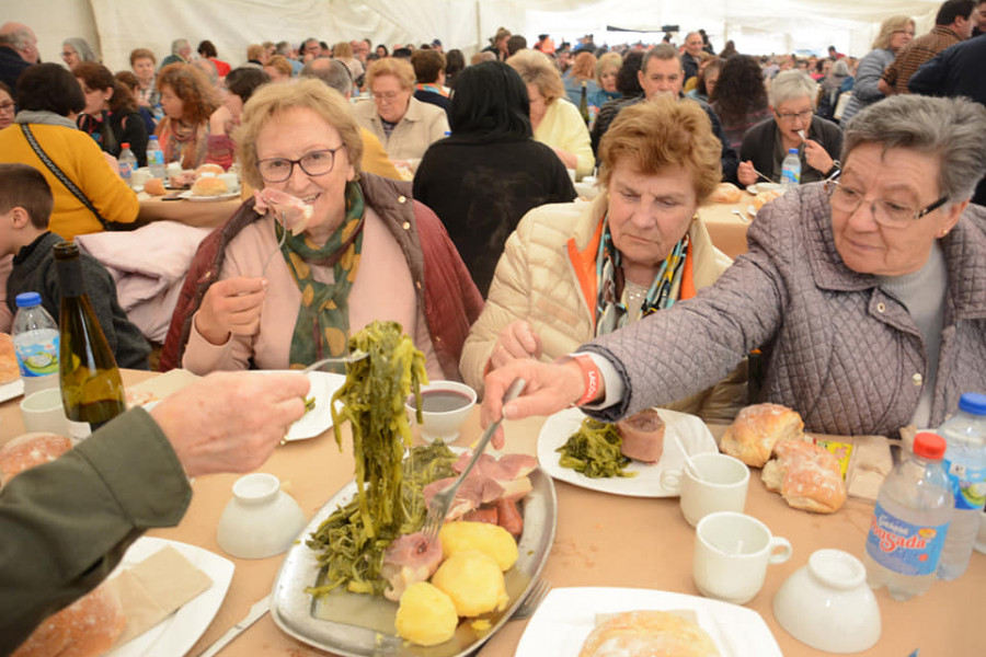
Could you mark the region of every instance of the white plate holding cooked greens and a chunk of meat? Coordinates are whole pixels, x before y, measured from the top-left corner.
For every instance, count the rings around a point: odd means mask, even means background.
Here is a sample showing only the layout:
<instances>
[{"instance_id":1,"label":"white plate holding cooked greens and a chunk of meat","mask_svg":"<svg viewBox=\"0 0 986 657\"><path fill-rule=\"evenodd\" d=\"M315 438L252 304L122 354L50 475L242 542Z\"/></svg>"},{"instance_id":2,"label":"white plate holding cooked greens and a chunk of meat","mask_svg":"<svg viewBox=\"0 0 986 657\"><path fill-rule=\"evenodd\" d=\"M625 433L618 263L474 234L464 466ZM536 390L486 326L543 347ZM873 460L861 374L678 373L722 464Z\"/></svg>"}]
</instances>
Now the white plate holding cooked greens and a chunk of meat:
<instances>
[{"instance_id":1,"label":"white plate holding cooked greens and a chunk of meat","mask_svg":"<svg viewBox=\"0 0 986 657\"><path fill-rule=\"evenodd\" d=\"M678 446L672 440L676 435L689 454L719 451L715 439L701 419L687 413L657 408L661 419L664 420L664 453L661 460L654 464L641 461L630 461L626 470L637 472L637 476L611 476L592 479L571 468L562 468L559 464L561 454L554 450L564 445L569 437L575 433L586 415L578 408L565 408L544 420L541 433L538 435L538 461L544 471L557 480L592 488L614 495L628 497L674 497L672 493L661 485L661 473L666 470L680 470L685 465Z\"/></svg>"}]
</instances>

